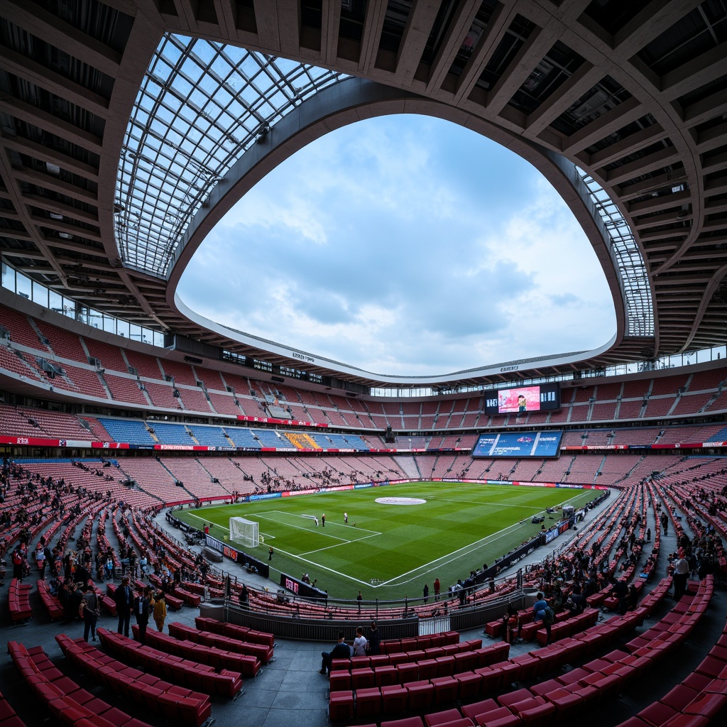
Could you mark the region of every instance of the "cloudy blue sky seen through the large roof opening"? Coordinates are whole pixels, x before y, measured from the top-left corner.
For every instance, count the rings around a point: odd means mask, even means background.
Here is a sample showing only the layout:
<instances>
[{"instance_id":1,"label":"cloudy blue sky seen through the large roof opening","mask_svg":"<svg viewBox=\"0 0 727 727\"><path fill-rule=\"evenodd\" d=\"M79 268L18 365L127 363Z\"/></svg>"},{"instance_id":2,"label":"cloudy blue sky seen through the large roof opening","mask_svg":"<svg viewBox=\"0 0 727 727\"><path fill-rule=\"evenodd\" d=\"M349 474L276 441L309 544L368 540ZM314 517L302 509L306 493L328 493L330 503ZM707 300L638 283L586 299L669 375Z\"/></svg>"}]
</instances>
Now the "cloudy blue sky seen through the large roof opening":
<instances>
[{"instance_id":1,"label":"cloudy blue sky seen through the large roof opening","mask_svg":"<svg viewBox=\"0 0 727 727\"><path fill-rule=\"evenodd\" d=\"M422 116L347 126L270 173L179 287L213 321L376 374L594 348L608 286L526 161Z\"/></svg>"}]
</instances>

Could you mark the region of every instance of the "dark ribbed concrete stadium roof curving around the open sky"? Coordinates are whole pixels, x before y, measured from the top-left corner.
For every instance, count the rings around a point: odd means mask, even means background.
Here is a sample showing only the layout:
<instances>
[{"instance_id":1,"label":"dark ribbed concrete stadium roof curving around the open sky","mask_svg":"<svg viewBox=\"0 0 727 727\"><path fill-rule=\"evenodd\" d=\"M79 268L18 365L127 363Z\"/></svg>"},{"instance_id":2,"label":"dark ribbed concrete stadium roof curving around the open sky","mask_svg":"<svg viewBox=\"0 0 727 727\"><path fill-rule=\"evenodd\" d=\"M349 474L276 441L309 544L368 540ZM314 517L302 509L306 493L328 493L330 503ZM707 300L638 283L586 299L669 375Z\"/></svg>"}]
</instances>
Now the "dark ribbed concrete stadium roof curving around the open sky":
<instances>
[{"instance_id":1,"label":"dark ribbed concrete stadium roof curving around the open sky","mask_svg":"<svg viewBox=\"0 0 727 727\"><path fill-rule=\"evenodd\" d=\"M145 0L4 3L0 249L28 276L137 324L369 386L496 382L726 342L723 1L175 0L161 8ZM271 63L288 59L281 66L299 73L318 67L356 78L292 95L261 143L252 140L264 115L247 126L247 142L236 137L244 153L221 159L219 177L209 170L209 194L177 228L183 235L162 270L132 264L128 247L117 246L125 209L117 180L134 103L172 33ZM180 305L175 287L191 254L262 174L330 129L385 113L449 119L537 166L598 254L616 307L613 340L431 379L381 377L232 332ZM594 204L587 185L610 201ZM611 236L625 228L604 224L606 207L633 233L625 253L614 252ZM626 269L630 256L643 261L640 275ZM634 325L640 316L653 316L653 326Z\"/></svg>"}]
</instances>

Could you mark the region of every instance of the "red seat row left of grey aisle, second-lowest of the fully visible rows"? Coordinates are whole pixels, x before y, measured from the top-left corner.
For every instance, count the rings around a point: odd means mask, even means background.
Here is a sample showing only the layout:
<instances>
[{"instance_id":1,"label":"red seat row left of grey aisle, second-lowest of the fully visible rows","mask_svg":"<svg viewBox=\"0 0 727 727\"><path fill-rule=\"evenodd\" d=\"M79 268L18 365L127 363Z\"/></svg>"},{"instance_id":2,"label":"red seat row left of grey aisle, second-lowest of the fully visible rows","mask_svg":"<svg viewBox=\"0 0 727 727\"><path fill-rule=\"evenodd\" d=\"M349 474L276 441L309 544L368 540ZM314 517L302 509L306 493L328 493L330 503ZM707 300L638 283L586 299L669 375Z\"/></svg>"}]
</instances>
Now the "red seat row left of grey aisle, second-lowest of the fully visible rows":
<instances>
[{"instance_id":1,"label":"red seat row left of grey aisle, second-lowest of the fully visible rows","mask_svg":"<svg viewBox=\"0 0 727 727\"><path fill-rule=\"evenodd\" d=\"M217 672L209 664L200 664L150 646L142 646L137 641L104 628L98 629L97 633L103 647L111 656L116 656L122 662L140 664L146 672L169 679L174 684L230 699L242 688L240 672L228 669Z\"/></svg>"}]
</instances>

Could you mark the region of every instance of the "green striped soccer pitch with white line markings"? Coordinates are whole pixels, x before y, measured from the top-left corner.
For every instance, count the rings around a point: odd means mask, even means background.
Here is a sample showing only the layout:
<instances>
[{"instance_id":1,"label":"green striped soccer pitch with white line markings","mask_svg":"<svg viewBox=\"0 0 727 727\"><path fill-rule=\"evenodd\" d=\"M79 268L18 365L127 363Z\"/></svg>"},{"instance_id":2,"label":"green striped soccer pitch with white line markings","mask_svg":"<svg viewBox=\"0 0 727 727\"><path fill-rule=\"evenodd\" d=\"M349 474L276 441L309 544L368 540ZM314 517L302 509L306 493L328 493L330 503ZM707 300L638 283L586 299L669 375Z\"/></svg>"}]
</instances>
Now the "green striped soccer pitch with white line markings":
<instances>
[{"instance_id":1,"label":"green striped soccer pitch with white line markings","mask_svg":"<svg viewBox=\"0 0 727 727\"><path fill-rule=\"evenodd\" d=\"M233 516L260 523L264 542L240 549L267 561L273 547L270 578L276 584L275 571L295 578L307 573L331 598L353 600L361 590L366 601L393 601L421 597L425 584L433 593L437 577L445 591L458 578L465 579L483 563L491 565L533 537L541 529L531 523L533 515L566 502L581 507L599 494L591 489L417 482L180 510L174 515L198 529L212 523L210 534L220 540L228 537ZM382 498L424 502L377 502ZM546 515L545 526L553 525L555 519L549 518L555 517Z\"/></svg>"}]
</instances>

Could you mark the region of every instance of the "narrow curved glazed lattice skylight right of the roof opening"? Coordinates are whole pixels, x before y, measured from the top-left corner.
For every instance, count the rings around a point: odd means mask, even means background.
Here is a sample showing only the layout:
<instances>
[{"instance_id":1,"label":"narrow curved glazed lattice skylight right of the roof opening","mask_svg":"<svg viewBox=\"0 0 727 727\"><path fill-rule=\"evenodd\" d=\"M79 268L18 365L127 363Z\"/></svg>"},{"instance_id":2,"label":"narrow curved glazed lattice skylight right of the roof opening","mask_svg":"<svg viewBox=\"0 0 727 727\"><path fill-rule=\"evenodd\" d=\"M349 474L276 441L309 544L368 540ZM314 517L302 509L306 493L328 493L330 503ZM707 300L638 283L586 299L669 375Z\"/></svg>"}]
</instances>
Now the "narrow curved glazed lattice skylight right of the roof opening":
<instances>
[{"instance_id":1,"label":"narrow curved glazed lattice skylight right of the roof opening","mask_svg":"<svg viewBox=\"0 0 727 727\"><path fill-rule=\"evenodd\" d=\"M651 286L646 263L631 228L601 185L582 169L577 168L577 171L610 238L609 250L616 262L626 305L627 335L653 337L654 301L651 298Z\"/></svg>"}]
</instances>

